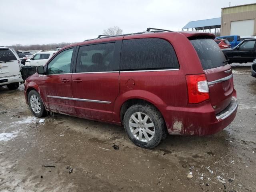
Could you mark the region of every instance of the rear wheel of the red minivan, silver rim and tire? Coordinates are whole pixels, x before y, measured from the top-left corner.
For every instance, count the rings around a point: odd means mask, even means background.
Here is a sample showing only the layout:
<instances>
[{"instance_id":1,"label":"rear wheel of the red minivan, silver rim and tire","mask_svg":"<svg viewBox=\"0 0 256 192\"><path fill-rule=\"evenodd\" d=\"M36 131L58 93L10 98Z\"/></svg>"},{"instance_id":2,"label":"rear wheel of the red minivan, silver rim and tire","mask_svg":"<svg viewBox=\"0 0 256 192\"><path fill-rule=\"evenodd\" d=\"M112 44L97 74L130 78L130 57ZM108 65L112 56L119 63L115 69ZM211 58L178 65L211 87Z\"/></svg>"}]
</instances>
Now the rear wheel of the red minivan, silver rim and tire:
<instances>
[{"instance_id":1,"label":"rear wheel of the red minivan, silver rim and tire","mask_svg":"<svg viewBox=\"0 0 256 192\"><path fill-rule=\"evenodd\" d=\"M135 104L124 114L124 128L134 144L154 148L166 137L166 125L160 112L149 104Z\"/></svg>"}]
</instances>

